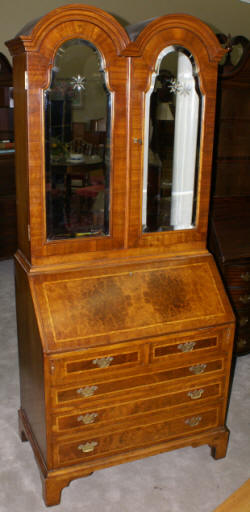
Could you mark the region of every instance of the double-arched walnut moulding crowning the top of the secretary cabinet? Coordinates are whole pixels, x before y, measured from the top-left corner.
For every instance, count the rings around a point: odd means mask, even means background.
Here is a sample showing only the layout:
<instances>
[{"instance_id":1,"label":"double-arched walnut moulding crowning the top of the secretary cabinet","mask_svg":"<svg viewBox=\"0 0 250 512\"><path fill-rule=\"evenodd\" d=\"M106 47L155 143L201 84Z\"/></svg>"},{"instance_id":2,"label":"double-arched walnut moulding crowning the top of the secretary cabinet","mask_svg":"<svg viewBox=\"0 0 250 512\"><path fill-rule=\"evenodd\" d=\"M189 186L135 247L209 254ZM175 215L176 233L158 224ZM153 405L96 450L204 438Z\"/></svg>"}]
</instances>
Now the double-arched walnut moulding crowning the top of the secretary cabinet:
<instances>
[{"instance_id":1,"label":"double-arched walnut moulding crowning the top of the secretary cabinet","mask_svg":"<svg viewBox=\"0 0 250 512\"><path fill-rule=\"evenodd\" d=\"M191 15L170 14L151 18L135 25L129 25L125 30L109 13L83 4L58 7L42 18L29 22L13 40L7 41L6 45L13 56L22 52L39 51L49 33L57 30L60 25L65 27L65 31L60 30L64 34L62 36L64 40L70 39L70 31L67 34L66 28L68 22L74 22L76 31L78 27L79 37L81 22L99 26L111 38L117 55L121 56L140 56L153 34L177 28L192 32L193 37L196 37L206 47L209 61L219 62L225 53L213 31L201 20ZM82 34L83 36L84 34Z\"/></svg>"}]
</instances>

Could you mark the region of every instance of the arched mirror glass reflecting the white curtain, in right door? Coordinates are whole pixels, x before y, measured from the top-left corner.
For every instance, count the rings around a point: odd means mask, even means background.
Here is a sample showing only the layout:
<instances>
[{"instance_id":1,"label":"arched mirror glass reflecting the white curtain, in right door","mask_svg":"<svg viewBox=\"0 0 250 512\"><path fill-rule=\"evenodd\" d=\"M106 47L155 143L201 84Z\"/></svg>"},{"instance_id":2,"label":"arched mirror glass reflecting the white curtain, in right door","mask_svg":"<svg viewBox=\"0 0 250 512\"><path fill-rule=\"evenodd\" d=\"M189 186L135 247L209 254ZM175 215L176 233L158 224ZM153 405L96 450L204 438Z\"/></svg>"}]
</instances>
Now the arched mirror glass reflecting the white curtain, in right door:
<instances>
[{"instance_id":1,"label":"arched mirror glass reflecting the white curtain, in right door","mask_svg":"<svg viewBox=\"0 0 250 512\"><path fill-rule=\"evenodd\" d=\"M192 55L182 47L165 48L146 94L144 233L195 227L201 112Z\"/></svg>"}]
</instances>

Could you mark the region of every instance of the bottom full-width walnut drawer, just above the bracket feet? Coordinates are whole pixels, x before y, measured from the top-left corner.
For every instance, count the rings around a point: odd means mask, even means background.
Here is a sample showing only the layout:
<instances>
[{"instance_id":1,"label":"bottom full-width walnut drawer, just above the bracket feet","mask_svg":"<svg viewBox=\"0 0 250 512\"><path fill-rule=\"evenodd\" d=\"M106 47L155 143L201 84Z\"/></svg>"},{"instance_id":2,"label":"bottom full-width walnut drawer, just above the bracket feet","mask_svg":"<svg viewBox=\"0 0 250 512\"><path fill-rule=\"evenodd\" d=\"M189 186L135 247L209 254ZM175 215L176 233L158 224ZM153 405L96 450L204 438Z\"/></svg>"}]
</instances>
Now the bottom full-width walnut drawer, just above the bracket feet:
<instances>
[{"instance_id":1,"label":"bottom full-width walnut drawer, just above the bracket feet","mask_svg":"<svg viewBox=\"0 0 250 512\"><path fill-rule=\"evenodd\" d=\"M183 434L200 432L214 428L219 424L219 410L199 411L194 415L163 421L144 427L134 427L111 435L79 437L78 440L54 444L54 467L87 462L98 457L105 457L126 450L145 448Z\"/></svg>"}]
</instances>

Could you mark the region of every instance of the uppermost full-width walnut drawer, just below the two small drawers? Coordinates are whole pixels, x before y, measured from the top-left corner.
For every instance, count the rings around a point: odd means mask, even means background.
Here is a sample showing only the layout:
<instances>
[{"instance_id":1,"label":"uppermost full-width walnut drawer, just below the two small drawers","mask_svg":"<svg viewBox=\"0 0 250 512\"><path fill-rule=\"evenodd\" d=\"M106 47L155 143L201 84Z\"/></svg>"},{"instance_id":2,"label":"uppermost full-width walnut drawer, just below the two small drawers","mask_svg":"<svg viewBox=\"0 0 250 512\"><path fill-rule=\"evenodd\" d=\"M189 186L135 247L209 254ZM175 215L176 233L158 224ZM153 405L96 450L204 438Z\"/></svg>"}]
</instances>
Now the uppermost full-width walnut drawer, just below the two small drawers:
<instances>
[{"instance_id":1,"label":"uppermost full-width walnut drawer, just below the two small drawers","mask_svg":"<svg viewBox=\"0 0 250 512\"><path fill-rule=\"evenodd\" d=\"M169 385L172 381L178 382L178 379L196 377L199 380L200 376L210 375L214 372L223 372L223 370L224 359L218 358L157 373L150 373L150 369L148 369L148 372L144 375L135 375L124 379L103 380L101 382L85 381L74 387L51 388L52 407L69 409L79 407L81 403L85 407L93 399L109 398L111 395L115 396L116 393L119 393L119 396L121 396L125 395L128 391L134 393L140 391L140 388L143 392L145 386L162 385L162 383Z\"/></svg>"}]
</instances>

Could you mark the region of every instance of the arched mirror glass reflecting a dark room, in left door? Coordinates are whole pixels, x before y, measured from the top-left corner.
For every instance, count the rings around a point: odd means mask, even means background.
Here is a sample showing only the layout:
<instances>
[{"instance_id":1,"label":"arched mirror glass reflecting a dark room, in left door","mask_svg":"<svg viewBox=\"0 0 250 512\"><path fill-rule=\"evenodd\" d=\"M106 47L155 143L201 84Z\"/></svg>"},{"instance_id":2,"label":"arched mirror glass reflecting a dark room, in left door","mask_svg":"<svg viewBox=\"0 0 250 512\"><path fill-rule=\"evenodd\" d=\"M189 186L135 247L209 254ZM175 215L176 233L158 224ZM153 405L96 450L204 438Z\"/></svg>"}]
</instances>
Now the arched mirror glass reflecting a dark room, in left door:
<instances>
[{"instance_id":1,"label":"arched mirror glass reflecting a dark room, in left door","mask_svg":"<svg viewBox=\"0 0 250 512\"><path fill-rule=\"evenodd\" d=\"M64 43L44 92L48 240L109 234L111 100L99 51Z\"/></svg>"}]
</instances>

